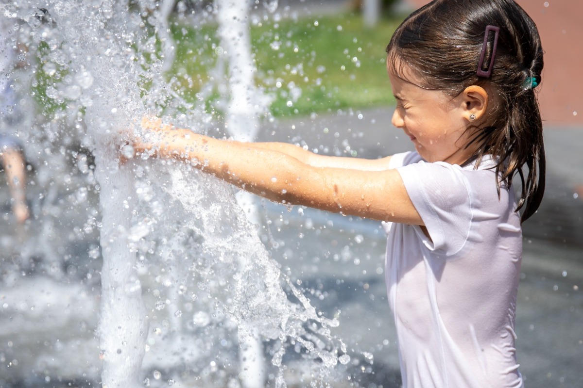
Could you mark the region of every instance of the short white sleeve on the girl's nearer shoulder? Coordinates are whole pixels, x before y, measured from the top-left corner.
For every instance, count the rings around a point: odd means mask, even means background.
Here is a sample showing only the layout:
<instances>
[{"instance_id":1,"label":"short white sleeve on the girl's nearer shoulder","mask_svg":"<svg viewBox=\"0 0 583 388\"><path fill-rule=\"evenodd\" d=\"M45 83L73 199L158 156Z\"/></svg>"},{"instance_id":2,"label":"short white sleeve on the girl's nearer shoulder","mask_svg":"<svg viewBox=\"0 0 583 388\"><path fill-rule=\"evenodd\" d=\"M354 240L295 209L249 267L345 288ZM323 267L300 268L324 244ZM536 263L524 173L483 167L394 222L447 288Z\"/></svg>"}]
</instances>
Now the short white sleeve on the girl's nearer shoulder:
<instances>
[{"instance_id":1,"label":"short white sleeve on the girl's nearer shoulder","mask_svg":"<svg viewBox=\"0 0 583 388\"><path fill-rule=\"evenodd\" d=\"M445 255L458 252L472 222L468 185L459 166L419 161L398 168L409 198L431 236L417 233L432 251Z\"/></svg>"}]
</instances>

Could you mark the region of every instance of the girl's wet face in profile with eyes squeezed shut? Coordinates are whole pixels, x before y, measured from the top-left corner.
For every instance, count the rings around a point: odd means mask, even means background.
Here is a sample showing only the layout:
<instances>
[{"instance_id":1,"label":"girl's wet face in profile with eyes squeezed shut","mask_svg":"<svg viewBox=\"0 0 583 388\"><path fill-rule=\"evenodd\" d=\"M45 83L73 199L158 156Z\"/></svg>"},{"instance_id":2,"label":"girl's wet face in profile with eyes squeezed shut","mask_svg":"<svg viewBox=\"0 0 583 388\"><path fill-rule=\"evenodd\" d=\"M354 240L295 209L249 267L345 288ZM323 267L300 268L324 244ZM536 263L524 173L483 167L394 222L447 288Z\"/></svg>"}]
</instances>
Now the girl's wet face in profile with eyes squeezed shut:
<instances>
[{"instance_id":1,"label":"girl's wet face in profile with eyes squeezed shut","mask_svg":"<svg viewBox=\"0 0 583 388\"><path fill-rule=\"evenodd\" d=\"M404 74L394 74L392 66L387 66L397 100L392 124L405 131L426 161L465 162L473 151L465 148L469 122L463 112L463 97L452 99L442 91L426 90L417 86L422 80L408 66L395 67L401 67Z\"/></svg>"}]
</instances>

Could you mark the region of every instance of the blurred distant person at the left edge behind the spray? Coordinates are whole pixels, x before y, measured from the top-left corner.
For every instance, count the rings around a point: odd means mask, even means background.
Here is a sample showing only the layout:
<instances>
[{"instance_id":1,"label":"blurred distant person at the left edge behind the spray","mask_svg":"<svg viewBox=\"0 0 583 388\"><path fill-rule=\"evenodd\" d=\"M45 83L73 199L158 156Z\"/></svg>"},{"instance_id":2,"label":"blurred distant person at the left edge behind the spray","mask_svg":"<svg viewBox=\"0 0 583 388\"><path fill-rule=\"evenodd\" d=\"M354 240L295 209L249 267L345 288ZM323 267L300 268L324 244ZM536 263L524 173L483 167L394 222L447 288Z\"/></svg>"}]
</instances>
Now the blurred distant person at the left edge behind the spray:
<instances>
[{"instance_id":1,"label":"blurred distant person at the left edge behind the spray","mask_svg":"<svg viewBox=\"0 0 583 388\"><path fill-rule=\"evenodd\" d=\"M12 212L16 221L29 218L26 202L26 162L23 147L15 134L20 123L20 112L11 75L16 65L16 40L10 30L10 20L0 19L0 168L4 170L11 195Z\"/></svg>"}]
</instances>

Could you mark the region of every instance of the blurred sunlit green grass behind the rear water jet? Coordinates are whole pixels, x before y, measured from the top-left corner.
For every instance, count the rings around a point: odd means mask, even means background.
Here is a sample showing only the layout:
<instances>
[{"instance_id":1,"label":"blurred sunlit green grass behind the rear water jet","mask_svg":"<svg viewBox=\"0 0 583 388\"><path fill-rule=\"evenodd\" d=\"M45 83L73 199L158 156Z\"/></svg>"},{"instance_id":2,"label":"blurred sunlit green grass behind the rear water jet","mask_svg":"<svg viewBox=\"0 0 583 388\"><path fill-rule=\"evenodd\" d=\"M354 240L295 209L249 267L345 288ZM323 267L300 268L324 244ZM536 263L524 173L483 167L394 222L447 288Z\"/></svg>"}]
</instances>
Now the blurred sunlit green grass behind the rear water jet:
<instances>
[{"instance_id":1,"label":"blurred sunlit green grass behind the rear water jet","mask_svg":"<svg viewBox=\"0 0 583 388\"><path fill-rule=\"evenodd\" d=\"M275 116L306 115L394 103L385 70L385 47L403 17L380 20L373 29L346 13L255 23L251 27L255 82L273 97ZM187 101L219 99L216 26L171 23L176 56L168 74ZM214 89L201 93L215 84ZM206 95L203 95L206 94Z\"/></svg>"}]
</instances>

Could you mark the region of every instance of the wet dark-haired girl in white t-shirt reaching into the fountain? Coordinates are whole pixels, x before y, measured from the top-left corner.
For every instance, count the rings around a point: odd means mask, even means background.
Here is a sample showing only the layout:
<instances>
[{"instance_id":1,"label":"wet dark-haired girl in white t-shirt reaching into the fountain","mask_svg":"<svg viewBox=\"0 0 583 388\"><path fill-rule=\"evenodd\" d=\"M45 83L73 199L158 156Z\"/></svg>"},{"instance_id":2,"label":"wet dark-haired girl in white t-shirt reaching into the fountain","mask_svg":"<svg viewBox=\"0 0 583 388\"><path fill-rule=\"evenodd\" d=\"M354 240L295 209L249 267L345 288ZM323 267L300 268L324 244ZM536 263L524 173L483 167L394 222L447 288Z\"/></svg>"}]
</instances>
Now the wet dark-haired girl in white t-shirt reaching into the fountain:
<instances>
[{"instance_id":1,"label":"wet dark-haired girl in white t-shirt reaching into the fountain","mask_svg":"<svg viewBox=\"0 0 583 388\"><path fill-rule=\"evenodd\" d=\"M135 149L269 200L383 221L403 386L521 387L521 222L545 183L536 26L512 0L435 0L399 26L387 54L392 123L416 152L336 158L152 119Z\"/></svg>"}]
</instances>

